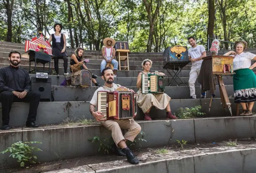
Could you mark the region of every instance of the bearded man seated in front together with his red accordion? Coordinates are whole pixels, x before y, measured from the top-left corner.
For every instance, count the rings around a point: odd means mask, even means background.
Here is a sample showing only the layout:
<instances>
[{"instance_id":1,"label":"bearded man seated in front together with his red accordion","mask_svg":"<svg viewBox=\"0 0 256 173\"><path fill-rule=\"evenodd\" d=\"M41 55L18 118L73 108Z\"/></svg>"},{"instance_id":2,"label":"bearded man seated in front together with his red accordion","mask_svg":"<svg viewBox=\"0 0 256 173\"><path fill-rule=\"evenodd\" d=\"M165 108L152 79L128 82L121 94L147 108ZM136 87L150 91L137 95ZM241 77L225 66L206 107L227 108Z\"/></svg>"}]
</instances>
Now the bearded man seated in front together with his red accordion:
<instances>
[{"instance_id":1,"label":"bearded man seated in front together with his red accordion","mask_svg":"<svg viewBox=\"0 0 256 173\"><path fill-rule=\"evenodd\" d=\"M139 160L126 145L127 140L133 142L141 131L140 125L133 119L137 115L136 94L133 90L114 84L114 72L109 67L102 70L102 79L104 85L95 91L90 101L90 113L111 130L115 152L126 156L130 164L138 164ZM124 136L121 128L128 130Z\"/></svg>"}]
</instances>

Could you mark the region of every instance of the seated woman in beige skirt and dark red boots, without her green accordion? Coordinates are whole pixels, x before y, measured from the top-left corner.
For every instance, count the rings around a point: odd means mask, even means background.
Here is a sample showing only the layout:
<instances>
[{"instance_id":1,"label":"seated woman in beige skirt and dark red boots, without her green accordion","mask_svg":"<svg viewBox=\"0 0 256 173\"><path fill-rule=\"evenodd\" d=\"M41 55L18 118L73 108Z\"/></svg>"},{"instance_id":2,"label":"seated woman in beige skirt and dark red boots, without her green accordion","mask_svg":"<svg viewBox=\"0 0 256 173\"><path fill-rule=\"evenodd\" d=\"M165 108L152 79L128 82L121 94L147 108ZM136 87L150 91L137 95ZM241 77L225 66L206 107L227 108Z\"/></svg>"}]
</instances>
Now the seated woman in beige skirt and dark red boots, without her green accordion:
<instances>
[{"instance_id":1,"label":"seated woman in beige skirt and dark red boots, without her green accordion","mask_svg":"<svg viewBox=\"0 0 256 173\"><path fill-rule=\"evenodd\" d=\"M138 99L137 99L137 105L142 109L144 112L144 119L145 120L152 120L149 116L149 111L152 108L152 106L156 107L157 109L165 109L166 110L166 118L167 119L177 119L174 115L171 113L171 108L170 108L170 100L171 97L169 97L167 94L142 94L142 73L144 74L159 74L159 75L164 75L162 72L149 72L150 68L152 67L152 61L149 59L145 59L142 62L142 72L139 73L137 77L137 88L139 89L137 91L138 94Z\"/></svg>"}]
</instances>

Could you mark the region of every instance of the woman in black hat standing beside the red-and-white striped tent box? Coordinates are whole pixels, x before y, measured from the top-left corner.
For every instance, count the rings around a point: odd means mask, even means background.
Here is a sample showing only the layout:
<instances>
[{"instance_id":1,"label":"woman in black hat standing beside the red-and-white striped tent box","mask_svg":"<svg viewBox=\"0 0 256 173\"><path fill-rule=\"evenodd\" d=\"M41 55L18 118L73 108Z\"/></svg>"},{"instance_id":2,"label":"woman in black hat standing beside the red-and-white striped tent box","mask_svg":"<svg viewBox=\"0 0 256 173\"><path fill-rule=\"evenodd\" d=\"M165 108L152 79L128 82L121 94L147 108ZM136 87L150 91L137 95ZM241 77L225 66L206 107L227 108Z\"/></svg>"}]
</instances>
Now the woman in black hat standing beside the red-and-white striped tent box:
<instances>
[{"instance_id":1,"label":"woman in black hat standing beside the red-and-white striped tent box","mask_svg":"<svg viewBox=\"0 0 256 173\"><path fill-rule=\"evenodd\" d=\"M62 24L55 23L53 26L55 33L50 36L48 42L52 41L52 54L54 56L54 68L59 75L59 59L64 61L64 75L69 74L67 72L68 68L68 55L66 54L66 36L61 34Z\"/></svg>"}]
</instances>

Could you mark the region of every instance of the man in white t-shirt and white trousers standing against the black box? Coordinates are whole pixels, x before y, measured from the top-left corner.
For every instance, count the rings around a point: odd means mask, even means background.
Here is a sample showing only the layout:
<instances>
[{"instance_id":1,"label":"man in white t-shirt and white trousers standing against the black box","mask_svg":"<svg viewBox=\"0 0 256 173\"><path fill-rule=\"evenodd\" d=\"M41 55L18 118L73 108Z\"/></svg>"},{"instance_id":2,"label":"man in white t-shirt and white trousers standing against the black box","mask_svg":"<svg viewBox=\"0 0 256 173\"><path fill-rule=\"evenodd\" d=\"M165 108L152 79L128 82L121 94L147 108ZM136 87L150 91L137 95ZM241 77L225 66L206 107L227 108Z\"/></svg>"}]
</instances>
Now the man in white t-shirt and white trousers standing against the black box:
<instances>
[{"instance_id":1,"label":"man in white t-shirt and white trousers standing against the black box","mask_svg":"<svg viewBox=\"0 0 256 173\"><path fill-rule=\"evenodd\" d=\"M188 81L190 85L190 98L197 98L194 83L197 80L197 77L200 72L201 64L203 62L202 58L206 56L206 51L203 45L197 45L194 37L189 37L188 42L192 46L188 50L188 58L192 62L192 67L190 70L190 79ZM206 98L205 92L201 94L201 98Z\"/></svg>"}]
</instances>

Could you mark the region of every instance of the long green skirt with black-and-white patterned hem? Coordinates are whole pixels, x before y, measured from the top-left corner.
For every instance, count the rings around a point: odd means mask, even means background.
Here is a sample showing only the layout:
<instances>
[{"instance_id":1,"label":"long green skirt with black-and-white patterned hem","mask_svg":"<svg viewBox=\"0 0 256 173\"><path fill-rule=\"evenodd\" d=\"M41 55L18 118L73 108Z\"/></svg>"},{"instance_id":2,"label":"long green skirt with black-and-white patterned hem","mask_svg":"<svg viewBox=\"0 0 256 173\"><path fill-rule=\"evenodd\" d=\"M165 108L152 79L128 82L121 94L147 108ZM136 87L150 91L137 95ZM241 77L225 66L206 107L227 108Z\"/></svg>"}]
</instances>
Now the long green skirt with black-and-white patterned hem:
<instances>
[{"instance_id":1,"label":"long green skirt with black-and-white patterned hem","mask_svg":"<svg viewBox=\"0 0 256 173\"><path fill-rule=\"evenodd\" d=\"M256 101L256 75L249 68L235 70L233 86L235 103Z\"/></svg>"}]
</instances>

